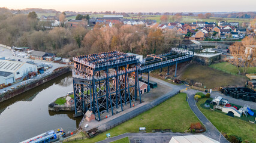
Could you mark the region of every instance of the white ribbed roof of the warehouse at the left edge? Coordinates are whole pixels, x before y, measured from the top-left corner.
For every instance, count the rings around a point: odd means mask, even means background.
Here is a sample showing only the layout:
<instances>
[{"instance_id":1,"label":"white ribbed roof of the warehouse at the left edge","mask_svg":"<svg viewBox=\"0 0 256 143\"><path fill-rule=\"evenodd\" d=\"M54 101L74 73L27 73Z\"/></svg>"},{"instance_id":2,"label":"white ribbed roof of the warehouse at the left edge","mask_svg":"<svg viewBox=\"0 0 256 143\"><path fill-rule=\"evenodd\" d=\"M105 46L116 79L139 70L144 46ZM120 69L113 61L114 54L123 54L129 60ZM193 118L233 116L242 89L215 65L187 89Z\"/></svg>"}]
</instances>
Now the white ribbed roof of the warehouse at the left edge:
<instances>
[{"instance_id":1,"label":"white ribbed roof of the warehouse at the left edge","mask_svg":"<svg viewBox=\"0 0 256 143\"><path fill-rule=\"evenodd\" d=\"M24 63L19 61L0 60L0 71L13 73L17 69L19 69L23 64Z\"/></svg>"}]
</instances>

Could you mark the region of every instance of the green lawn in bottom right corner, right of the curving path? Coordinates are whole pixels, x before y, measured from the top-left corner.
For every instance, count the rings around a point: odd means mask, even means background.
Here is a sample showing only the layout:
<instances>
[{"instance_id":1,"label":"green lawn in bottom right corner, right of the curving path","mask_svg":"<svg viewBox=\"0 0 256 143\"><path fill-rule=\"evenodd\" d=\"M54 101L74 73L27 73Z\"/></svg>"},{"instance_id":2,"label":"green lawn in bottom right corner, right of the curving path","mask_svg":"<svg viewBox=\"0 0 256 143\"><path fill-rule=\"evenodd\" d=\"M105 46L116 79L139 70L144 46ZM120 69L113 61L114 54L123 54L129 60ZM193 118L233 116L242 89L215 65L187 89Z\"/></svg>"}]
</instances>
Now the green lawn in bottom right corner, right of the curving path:
<instances>
[{"instance_id":1,"label":"green lawn in bottom right corner, right of the curving path","mask_svg":"<svg viewBox=\"0 0 256 143\"><path fill-rule=\"evenodd\" d=\"M217 111L202 108L200 105L203 104L207 99L208 98L200 99L197 102L197 107L219 131L239 136L242 139L248 139L251 142L256 142L255 124L218 113Z\"/></svg>"}]
</instances>

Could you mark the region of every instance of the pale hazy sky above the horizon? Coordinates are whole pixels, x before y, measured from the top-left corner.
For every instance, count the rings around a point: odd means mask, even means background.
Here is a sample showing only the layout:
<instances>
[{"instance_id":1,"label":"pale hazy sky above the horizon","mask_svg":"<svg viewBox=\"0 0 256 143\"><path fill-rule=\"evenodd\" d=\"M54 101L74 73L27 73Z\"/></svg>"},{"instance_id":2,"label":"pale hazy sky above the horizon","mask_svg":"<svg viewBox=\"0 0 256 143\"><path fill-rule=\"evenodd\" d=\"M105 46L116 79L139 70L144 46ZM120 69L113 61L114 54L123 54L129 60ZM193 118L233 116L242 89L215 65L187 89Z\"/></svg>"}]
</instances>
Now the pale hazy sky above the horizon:
<instances>
[{"instance_id":1,"label":"pale hazy sky above the horizon","mask_svg":"<svg viewBox=\"0 0 256 143\"><path fill-rule=\"evenodd\" d=\"M256 11L256 0L7 0L1 1L0 7L15 10L43 8L77 12L230 12Z\"/></svg>"}]
</instances>

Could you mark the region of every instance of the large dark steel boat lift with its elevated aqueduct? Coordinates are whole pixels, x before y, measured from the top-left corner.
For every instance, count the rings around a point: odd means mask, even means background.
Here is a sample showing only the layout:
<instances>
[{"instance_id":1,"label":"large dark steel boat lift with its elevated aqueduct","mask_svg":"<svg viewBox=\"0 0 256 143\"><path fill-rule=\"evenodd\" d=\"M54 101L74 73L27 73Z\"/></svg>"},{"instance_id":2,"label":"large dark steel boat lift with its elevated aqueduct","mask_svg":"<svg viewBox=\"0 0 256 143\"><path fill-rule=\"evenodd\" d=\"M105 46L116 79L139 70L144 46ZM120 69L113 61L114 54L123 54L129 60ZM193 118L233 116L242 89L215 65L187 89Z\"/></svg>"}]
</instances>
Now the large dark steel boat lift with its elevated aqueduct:
<instances>
[{"instance_id":1,"label":"large dark steel boat lift with its elevated aqueduct","mask_svg":"<svg viewBox=\"0 0 256 143\"><path fill-rule=\"evenodd\" d=\"M73 88L75 117L92 111L97 120L101 114L111 112L124 105L132 107L132 102L141 102L138 77L141 73L161 69L192 60L194 52L173 48L160 55L138 58L119 51L80 55L73 58ZM176 76L175 70L175 76ZM147 86L147 92L150 87Z\"/></svg>"}]
</instances>

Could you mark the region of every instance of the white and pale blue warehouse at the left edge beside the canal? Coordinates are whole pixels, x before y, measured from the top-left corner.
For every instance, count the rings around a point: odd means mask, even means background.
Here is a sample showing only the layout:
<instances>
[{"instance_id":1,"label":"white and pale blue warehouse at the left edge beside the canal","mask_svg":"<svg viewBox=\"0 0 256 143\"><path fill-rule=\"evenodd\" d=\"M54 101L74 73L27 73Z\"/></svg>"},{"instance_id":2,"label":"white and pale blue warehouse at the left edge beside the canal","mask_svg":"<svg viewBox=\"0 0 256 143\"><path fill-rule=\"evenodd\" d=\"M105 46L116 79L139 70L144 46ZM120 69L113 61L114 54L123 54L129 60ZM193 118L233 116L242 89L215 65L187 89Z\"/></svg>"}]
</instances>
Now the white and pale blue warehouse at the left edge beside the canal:
<instances>
[{"instance_id":1,"label":"white and pale blue warehouse at the left edge beside the canal","mask_svg":"<svg viewBox=\"0 0 256 143\"><path fill-rule=\"evenodd\" d=\"M0 60L0 86L23 80L31 72L37 72L36 65L20 61Z\"/></svg>"}]
</instances>

